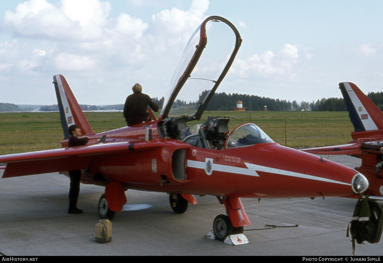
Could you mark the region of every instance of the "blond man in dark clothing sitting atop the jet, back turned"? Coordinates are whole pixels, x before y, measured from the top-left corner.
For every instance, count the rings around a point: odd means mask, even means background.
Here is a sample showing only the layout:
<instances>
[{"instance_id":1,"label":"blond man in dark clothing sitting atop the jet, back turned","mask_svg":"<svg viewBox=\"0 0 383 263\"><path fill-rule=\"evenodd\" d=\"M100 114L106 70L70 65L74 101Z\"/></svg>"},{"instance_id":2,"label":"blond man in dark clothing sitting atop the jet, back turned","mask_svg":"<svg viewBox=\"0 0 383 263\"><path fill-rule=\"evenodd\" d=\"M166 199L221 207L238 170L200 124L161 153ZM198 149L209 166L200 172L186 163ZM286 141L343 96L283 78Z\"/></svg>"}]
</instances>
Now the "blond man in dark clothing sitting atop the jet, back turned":
<instances>
[{"instance_id":1,"label":"blond man in dark clothing sitting atop the jet, back turned","mask_svg":"<svg viewBox=\"0 0 383 263\"><path fill-rule=\"evenodd\" d=\"M158 105L152 101L149 95L142 93L140 84L134 84L132 89L133 94L126 98L124 105L124 117L128 126L149 121L150 115L146 111L148 105L155 112L159 110Z\"/></svg>"}]
</instances>

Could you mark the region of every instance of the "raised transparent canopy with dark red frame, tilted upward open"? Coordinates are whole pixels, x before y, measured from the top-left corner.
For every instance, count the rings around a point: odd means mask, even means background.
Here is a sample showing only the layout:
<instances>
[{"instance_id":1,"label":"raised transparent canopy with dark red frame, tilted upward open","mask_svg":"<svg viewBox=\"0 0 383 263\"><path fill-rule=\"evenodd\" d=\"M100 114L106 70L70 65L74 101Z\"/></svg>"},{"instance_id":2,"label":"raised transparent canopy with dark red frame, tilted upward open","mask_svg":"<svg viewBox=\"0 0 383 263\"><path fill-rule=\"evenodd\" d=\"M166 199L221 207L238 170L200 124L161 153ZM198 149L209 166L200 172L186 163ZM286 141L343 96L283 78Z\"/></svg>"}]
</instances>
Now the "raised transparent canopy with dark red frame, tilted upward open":
<instances>
[{"instance_id":1,"label":"raised transparent canopy with dark red frame, tilted upward open","mask_svg":"<svg viewBox=\"0 0 383 263\"><path fill-rule=\"evenodd\" d=\"M223 17L208 17L191 36L173 75L159 120L200 119L241 46L241 36Z\"/></svg>"}]
</instances>

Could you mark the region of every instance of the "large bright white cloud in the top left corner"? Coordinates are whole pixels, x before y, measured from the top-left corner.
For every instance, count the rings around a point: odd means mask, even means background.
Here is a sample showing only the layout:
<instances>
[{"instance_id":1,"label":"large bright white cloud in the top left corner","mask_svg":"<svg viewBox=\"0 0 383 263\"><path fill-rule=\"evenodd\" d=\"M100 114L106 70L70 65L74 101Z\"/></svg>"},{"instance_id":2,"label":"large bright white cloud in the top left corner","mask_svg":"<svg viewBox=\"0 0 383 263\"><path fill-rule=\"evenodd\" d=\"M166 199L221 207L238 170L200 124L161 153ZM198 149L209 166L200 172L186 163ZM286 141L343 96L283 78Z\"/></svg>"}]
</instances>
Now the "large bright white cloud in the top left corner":
<instances>
[{"instance_id":1,"label":"large bright white cloud in the top left corner","mask_svg":"<svg viewBox=\"0 0 383 263\"><path fill-rule=\"evenodd\" d=\"M30 0L5 12L3 24L19 36L53 40L95 40L105 34L110 14L109 2L61 0L54 5L46 0Z\"/></svg>"}]
</instances>

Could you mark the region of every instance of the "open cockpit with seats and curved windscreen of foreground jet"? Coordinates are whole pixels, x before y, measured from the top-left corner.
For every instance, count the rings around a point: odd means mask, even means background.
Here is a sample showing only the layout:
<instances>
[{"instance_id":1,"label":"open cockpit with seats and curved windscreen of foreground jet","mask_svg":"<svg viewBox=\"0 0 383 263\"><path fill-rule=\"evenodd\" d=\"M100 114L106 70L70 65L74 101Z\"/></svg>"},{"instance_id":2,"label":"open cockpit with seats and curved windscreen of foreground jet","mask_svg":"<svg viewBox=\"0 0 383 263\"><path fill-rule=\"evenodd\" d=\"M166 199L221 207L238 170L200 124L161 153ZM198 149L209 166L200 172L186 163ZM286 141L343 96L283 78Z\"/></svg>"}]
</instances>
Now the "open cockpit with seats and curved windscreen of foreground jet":
<instances>
[{"instance_id":1,"label":"open cockpit with seats and curved windscreen of foreground jet","mask_svg":"<svg viewBox=\"0 0 383 263\"><path fill-rule=\"evenodd\" d=\"M242 124L229 134L230 117L208 117L203 124L187 126L190 116L168 118L159 129L161 137L177 139L195 147L222 150L274 141L254 123Z\"/></svg>"}]
</instances>

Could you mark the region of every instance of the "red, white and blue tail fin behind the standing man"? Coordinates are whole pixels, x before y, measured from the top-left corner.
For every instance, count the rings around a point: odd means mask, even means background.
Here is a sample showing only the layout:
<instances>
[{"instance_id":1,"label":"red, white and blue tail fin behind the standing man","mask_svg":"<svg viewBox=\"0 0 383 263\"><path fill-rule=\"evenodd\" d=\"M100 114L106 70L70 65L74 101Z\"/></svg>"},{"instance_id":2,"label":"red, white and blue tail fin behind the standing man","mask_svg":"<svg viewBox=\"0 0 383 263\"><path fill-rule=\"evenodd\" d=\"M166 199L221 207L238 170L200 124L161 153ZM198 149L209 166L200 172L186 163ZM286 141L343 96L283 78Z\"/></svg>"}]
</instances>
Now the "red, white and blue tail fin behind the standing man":
<instances>
[{"instance_id":1,"label":"red, white and blue tail fin behind the standing man","mask_svg":"<svg viewBox=\"0 0 383 263\"><path fill-rule=\"evenodd\" d=\"M72 124L77 124L80 127L81 135L94 135L95 133L90 127L64 76L60 74L53 76L53 83L56 89L64 138L69 139L68 127Z\"/></svg>"}]
</instances>

